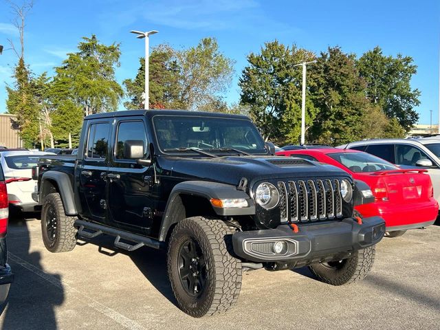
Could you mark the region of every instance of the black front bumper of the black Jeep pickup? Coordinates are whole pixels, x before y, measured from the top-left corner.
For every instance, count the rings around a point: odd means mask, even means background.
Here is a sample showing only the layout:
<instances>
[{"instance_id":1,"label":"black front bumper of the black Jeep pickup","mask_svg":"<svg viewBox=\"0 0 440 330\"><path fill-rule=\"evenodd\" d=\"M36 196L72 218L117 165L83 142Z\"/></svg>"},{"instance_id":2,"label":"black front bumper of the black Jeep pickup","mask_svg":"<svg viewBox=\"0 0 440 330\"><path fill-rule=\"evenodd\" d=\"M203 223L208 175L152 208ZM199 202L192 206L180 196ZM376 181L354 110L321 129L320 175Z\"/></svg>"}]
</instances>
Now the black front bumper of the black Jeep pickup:
<instances>
[{"instance_id":1,"label":"black front bumper of the black Jeep pickup","mask_svg":"<svg viewBox=\"0 0 440 330\"><path fill-rule=\"evenodd\" d=\"M326 223L303 223L293 232L289 225L276 229L236 232L232 235L234 252L241 259L253 262L325 259L326 256L353 252L378 243L385 233L381 217L353 218ZM274 244L284 242L281 253ZM281 245L280 245L281 246Z\"/></svg>"}]
</instances>

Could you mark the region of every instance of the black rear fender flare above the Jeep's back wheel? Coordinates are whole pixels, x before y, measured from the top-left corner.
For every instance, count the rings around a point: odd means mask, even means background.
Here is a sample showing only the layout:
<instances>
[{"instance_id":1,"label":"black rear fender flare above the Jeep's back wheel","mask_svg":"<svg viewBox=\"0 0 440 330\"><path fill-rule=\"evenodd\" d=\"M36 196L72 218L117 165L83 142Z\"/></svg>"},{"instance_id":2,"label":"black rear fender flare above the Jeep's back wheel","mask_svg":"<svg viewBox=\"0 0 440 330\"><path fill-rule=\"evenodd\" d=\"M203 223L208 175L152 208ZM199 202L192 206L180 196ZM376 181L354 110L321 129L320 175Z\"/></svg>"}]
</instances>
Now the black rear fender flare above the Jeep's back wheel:
<instances>
[{"instance_id":1,"label":"black rear fender flare above the Jeep's back wheel","mask_svg":"<svg viewBox=\"0 0 440 330\"><path fill-rule=\"evenodd\" d=\"M47 193L44 190L45 181L55 181L58 186L58 192L61 196L61 201L63 201L64 212L66 215L78 215L78 210L76 210L74 189L72 187L72 182L69 179L69 175L63 172L57 172L55 170L48 170L43 173L41 177L41 183L39 188L39 200L43 203L43 199Z\"/></svg>"}]
</instances>

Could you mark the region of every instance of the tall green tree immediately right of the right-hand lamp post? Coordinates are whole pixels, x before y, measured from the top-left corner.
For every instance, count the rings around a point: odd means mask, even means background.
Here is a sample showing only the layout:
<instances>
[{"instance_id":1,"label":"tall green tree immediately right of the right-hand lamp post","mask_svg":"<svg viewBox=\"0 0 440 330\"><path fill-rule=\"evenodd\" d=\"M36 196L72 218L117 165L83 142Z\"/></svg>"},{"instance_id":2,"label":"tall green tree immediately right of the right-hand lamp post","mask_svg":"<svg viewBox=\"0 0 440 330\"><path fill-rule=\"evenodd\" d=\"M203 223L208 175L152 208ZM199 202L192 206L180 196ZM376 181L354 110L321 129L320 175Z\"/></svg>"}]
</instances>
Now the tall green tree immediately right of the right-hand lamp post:
<instances>
[{"instance_id":1,"label":"tall green tree immediately right of the right-hand lamp post","mask_svg":"<svg viewBox=\"0 0 440 330\"><path fill-rule=\"evenodd\" d=\"M329 47L311 68L317 76L311 89L319 109L310 132L315 142L342 144L362 137L362 118L370 102L355 61L354 54Z\"/></svg>"}]
</instances>

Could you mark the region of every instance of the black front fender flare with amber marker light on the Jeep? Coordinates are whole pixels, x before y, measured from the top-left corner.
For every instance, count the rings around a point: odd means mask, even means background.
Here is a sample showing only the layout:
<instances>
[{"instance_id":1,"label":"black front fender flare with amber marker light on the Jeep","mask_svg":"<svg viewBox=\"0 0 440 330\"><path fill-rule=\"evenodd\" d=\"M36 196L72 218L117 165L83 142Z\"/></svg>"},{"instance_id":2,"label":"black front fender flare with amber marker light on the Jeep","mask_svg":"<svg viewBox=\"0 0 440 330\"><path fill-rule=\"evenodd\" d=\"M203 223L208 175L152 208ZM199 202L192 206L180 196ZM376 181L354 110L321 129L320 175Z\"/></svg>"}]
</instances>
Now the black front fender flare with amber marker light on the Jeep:
<instances>
[{"instance_id":1,"label":"black front fender flare with amber marker light on the Jeep","mask_svg":"<svg viewBox=\"0 0 440 330\"><path fill-rule=\"evenodd\" d=\"M182 214L182 212L185 214L184 205L180 197L181 195L203 197L208 201L212 198L246 199L246 201L248 201L247 208L216 208L212 206L212 209L221 217L255 214L254 200L243 190L237 190L236 186L210 181L184 181L177 184L173 190L171 190L170 197L166 203L164 217L162 218L159 241L165 241L171 225L179 222L185 217L182 218L178 215Z\"/></svg>"}]
</instances>

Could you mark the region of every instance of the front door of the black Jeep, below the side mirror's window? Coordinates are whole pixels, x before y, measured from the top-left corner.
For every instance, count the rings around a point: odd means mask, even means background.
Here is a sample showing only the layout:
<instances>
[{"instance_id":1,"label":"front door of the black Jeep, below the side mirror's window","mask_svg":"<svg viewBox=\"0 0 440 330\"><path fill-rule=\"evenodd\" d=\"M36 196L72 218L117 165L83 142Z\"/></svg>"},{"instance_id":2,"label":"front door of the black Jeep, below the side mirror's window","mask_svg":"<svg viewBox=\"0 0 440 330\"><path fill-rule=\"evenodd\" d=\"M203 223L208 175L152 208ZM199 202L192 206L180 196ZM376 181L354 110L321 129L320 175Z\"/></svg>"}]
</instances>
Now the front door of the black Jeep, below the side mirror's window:
<instances>
[{"instance_id":1,"label":"front door of the black Jeep, below the side mirror's window","mask_svg":"<svg viewBox=\"0 0 440 330\"><path fill-rule=\"evenodd\" d=\"M112 225L140 234L150 234L153 221L153 166L142 166L136 159L126 159L127 142L144 145L148 155L144 118L119 120L115 123L114 148L107 174L109 217Z\"/></svg>"}]
</instances>

